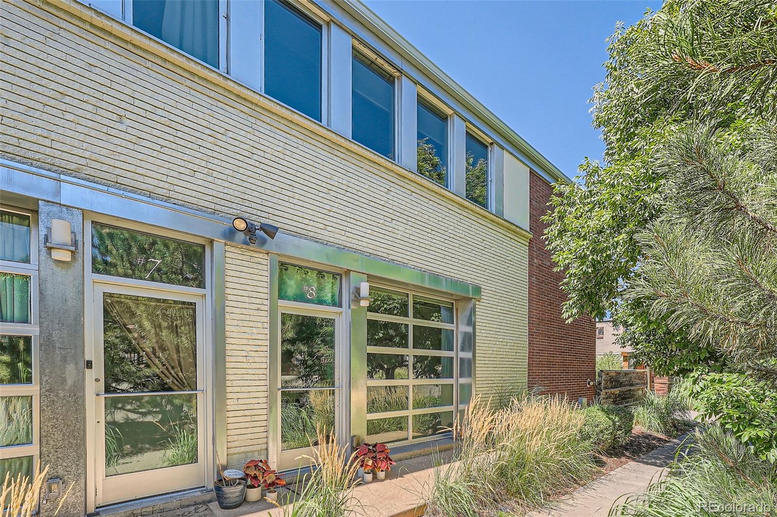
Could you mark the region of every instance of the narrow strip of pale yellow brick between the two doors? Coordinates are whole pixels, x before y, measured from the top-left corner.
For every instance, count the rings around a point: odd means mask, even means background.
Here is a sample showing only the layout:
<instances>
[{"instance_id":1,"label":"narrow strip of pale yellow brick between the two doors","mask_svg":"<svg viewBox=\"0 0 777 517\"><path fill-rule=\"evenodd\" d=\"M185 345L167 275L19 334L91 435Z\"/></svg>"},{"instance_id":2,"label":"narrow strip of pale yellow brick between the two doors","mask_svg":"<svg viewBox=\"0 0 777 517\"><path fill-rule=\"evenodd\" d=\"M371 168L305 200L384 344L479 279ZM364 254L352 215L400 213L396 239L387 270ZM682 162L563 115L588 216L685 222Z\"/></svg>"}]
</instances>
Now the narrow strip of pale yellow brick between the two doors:
<instances>
[{"instance_id":1,"label":"narrow strip of pale yellow brick between the two doors","mask_svg":"<svg viewBox=\"0 0 777 517\"><path fill-rule=\"evenodd\" d=\"M267 253L225 246L227 463L267 457Z\"/></svg>"}]
</instances>

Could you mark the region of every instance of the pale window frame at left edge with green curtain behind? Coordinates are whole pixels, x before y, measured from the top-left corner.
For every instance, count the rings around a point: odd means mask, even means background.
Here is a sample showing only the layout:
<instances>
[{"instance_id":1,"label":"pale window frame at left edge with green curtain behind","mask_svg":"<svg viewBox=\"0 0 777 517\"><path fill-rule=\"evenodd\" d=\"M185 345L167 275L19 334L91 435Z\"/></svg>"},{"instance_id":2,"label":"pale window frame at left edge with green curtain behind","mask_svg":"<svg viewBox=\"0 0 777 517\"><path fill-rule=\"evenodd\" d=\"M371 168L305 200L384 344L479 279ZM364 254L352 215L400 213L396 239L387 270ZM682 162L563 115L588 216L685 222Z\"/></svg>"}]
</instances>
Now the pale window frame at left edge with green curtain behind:
<instances>
[{"instance_id":1,"label":"pale window frame at left edge with green curtain behind","mask_svg":"<svg viewBox=\"0 0 777 517\"><path fill-rule=\"evenodd\" d=\"M30 443L0 446L0 460L12 460L32 456L33 476L40 462L40 326L38 320L39 284L38 284L38 241L37 212L16 206L2 206L5 212L30 216L30 262L0 260L0 272L30 277L30 323L0 322L0 334L30 337L30 359L32 363L32 383L0 384L2 397L32 397L33 435Z\"/></svg>"}]
</instances>

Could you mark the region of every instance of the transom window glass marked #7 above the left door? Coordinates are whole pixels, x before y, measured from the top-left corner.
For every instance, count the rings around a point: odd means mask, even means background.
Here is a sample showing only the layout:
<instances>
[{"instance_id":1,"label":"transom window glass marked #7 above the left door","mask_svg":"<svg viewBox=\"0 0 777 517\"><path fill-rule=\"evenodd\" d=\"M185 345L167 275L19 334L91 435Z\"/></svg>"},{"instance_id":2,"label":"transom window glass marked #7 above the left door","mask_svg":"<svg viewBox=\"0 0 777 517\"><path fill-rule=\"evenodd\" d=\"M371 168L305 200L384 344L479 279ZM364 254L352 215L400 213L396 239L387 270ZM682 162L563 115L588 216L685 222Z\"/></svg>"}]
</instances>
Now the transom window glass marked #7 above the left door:
<instances>
[{"instance_id":1,"label":"transom window glass marked #7 above the left door","mask_svg":"<svg viewBox=\"0 0 777 517\"><path fill-rule=\"evenodd\" d=\"M202 245L92 224L92 272L204 288Z\"/></svg>"}]
</instances>

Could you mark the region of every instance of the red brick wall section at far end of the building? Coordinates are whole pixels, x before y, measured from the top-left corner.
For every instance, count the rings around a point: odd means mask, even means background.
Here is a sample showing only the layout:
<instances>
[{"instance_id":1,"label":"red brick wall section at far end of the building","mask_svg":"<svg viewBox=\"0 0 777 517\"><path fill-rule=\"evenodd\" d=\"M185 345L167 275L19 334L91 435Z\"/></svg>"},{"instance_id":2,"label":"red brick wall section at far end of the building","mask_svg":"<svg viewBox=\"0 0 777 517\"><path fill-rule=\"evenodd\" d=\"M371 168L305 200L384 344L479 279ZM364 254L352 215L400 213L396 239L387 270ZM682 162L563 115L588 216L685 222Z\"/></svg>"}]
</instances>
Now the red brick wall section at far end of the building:
<instances>
[{"instance_id":1,"label":"red brick wall section at far end of the building","mask_svg":"<svg viewBox=\"0 0 777 517\"><path fill-rule=\"evenodd\" d=\"M529 359L528 387L541 386L546 394L594 398L596 381L596 324L581 317L566 324L561 317L561 304L566 295L559 288L563 274L553 272L550 252L542 235L545 224L539 220L548 211L552 187L531 172L529 179L529 229L534 237L529 243Z\"/></svg>"}]
</instances>

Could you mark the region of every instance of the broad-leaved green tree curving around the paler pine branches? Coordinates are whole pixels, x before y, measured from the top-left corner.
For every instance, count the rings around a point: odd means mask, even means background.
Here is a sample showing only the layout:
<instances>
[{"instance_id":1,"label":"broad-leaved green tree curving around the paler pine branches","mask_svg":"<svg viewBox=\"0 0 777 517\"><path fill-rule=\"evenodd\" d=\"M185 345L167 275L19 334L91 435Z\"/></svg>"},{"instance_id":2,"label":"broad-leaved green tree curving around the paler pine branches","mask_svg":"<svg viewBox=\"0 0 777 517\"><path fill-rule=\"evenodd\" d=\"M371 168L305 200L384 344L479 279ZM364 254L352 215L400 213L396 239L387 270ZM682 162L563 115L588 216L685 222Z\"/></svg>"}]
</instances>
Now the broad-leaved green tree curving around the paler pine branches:
<instances>
[{"instance_id":1,"label":"broad-leaved green tree curving around the paler pine branches","mask_svg":"<svg viewBox=\"0 0 777 517\"><path fill-rule=\"evenodd\" d=\"M656 165L657 154L699 123L743 147L752 127L773 120L775 36L775 3L748 0L670 1L633 26L618 26L605 82L592 99L605 160L586 159L579 182L557 185L545 217L548 247L566 272L565 317L610 314L626 329L622 342L666 372L720 358L714 347L650 315L646 304L623 303L645 259L637 235L667 206L667 170Z\"/></svg>"}]
</instances>

